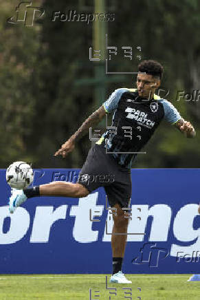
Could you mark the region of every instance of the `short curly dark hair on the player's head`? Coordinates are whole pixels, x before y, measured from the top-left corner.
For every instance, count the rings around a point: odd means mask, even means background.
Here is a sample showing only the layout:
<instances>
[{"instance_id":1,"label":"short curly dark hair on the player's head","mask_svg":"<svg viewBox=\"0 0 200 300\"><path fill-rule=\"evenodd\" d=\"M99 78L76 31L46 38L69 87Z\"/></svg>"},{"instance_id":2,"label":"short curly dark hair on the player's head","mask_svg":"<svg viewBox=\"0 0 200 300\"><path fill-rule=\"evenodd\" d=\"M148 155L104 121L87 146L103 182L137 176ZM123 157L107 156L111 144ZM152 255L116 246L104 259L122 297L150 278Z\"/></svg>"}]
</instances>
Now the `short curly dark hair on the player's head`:
<instances>
[{"instance_id":1,"label":"short curly dark hair on the player's head","mask_svg":"<svg viewBox=\"0 0 200 300\"><path fill-rule=\"evenodd\" d=\"M138 72L146 72L146 74L159 77L161 79L164 68L160 63L158 63L158 61L153 61L150 59L148 61L142 61L138 65Z\"/></svg>"}]
</instances>

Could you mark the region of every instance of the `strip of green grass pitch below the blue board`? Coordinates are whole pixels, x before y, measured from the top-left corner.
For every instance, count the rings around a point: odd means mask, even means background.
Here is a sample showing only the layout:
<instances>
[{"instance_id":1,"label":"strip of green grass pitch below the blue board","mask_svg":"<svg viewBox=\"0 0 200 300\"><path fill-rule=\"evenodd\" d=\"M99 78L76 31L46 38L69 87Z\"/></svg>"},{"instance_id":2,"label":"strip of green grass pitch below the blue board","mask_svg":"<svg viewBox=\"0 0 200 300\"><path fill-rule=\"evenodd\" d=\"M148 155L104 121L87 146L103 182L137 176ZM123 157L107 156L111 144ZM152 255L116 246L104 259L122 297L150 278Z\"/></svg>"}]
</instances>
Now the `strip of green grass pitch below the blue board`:
<instances>
[{"instance_id":1,"label":"strip of green grass pitch below the blue board","mask_svg":"<svg viewBox=\"0 0 200 300\"><path fill-rule=\"evenodd\" d=\"M127 275L132 284L109 283L106 290L106 275L0 275L0 300L199 300L200 281L188 282L190 275ZM108 275L108 279L110 275ZM141 291L137 288L141 288ZM95 292L99 290L100 292ZM100 297L95 297L99 295ZM138 297L138 298L137 298Z\"/></svg>"}]
</instances>

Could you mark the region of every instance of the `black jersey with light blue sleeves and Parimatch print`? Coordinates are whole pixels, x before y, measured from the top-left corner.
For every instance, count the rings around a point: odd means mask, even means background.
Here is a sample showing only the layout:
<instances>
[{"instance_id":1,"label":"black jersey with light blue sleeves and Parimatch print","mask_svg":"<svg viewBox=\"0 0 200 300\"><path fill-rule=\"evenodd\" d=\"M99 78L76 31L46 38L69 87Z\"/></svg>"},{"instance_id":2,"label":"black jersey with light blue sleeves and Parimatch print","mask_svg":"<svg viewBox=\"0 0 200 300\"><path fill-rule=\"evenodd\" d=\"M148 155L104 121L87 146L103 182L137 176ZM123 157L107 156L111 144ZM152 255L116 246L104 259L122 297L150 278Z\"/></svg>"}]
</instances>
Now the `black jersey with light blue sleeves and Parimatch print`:
<instances>
[{"instance_id":1,"label":"black jersey with light blue sleeves and Parimatch print","mask_svg":"<svg viewBox=\"0 0 200 300\"><path fill-rule=\"evenodd\" d=\"M102 144L120 166L129 169L163 119L170 124L181 119L168 100L155 94L151 100L142 98L137 89L116 89L103 105L107 113L113 113L114 129L103 133L96 144Z\"/></svg>"}]
</instances>

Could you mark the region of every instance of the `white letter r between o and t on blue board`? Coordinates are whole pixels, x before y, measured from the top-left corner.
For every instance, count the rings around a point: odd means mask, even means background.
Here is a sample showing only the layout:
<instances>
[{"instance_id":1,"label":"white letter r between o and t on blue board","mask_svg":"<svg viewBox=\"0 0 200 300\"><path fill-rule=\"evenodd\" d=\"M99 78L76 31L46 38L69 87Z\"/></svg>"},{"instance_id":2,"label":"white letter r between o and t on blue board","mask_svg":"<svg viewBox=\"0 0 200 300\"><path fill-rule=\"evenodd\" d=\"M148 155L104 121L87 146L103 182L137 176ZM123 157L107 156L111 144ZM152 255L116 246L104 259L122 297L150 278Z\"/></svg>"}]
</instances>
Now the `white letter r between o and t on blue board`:
<instances>
[{"instance_id":1,"label":"white letter r between o and t on blue board","mask_svg":"<svg viewBox=\"0 0 200 300\"><path fill-rule=\"evenodd\" d=\"M47 243L52 225L58 219L65 219L67 205L61 205L54 210L54 206L38 206L32 226L31 243Z\"/></svg>"}]
</instances>

